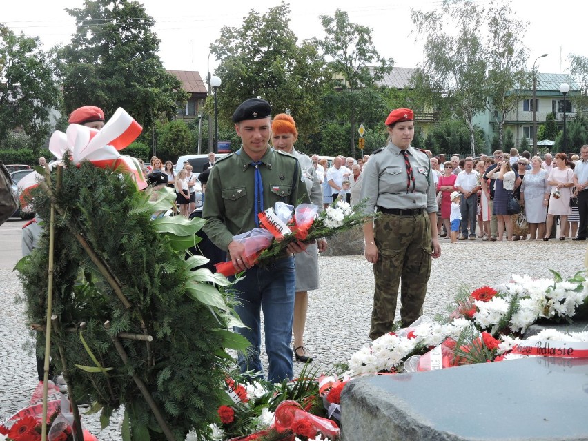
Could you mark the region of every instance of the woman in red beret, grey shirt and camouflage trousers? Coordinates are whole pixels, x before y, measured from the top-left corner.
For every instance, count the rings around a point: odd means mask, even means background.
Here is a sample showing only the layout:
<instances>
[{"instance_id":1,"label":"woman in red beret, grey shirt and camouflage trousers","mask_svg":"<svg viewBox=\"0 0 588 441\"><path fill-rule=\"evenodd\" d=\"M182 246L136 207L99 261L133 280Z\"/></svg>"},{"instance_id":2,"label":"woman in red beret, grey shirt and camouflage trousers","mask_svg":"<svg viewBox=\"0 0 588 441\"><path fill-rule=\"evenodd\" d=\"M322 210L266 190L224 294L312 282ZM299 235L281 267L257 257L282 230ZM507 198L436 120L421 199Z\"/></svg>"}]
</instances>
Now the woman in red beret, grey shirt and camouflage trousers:
<instances>
[{"instance_id":1,"label":"woman in red beret, grey shirt and camouflage trousers","mask_svg":"<svg viewBox=\"0 0 588 441\"><path fill-rule=\"evenodd\" d=\"M373 264L375 278L372 340L393 329L401 280L402 326L420 317L431 257L441 254L431 162L426 153L411 147L413 119L410 109L393 110L386 119L388 145L375 150L364 165L360 199L367 198L366 214L381 213L364 224L365 257Z\"/></svg>"}]
</instances>

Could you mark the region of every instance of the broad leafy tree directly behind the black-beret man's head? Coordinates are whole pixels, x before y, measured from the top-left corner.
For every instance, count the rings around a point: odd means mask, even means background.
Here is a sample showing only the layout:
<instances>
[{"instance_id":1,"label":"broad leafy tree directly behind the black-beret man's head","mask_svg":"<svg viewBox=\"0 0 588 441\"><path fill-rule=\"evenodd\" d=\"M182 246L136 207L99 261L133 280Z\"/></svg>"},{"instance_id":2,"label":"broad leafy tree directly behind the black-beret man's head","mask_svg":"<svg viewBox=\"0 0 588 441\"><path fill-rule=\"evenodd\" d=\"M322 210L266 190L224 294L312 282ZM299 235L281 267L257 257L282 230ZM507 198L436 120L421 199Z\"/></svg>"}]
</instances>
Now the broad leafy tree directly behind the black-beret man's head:
<instances>
[{"instance_id":1,"label":"broad leafy tree directly behind the black-beret man's head","mask_svg":"<svg viewBox=\"0 0 588 441\"><path fill-rule=\"evenodd\" d=\"M324 61L311 41L297 43L289 28L290 8L284 1L266 14L251 10L241 28L224 26L210 50L220 65L219 118L231 121L245 99L260 96L274 114L289 110L296 121L299 142L318 130Z\"/></svg>"}]
</instances>

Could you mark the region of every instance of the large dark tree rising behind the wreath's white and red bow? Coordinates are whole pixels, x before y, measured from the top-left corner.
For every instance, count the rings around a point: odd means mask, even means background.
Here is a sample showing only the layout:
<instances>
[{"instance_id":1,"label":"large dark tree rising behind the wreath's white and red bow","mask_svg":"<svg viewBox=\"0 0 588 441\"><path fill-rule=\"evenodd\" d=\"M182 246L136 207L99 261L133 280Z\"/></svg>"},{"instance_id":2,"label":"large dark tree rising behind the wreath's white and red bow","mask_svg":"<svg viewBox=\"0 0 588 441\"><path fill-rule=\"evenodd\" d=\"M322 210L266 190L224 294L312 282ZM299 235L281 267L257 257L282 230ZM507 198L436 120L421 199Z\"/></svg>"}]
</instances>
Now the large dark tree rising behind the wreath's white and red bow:
<instances>
[{"instance_id":1,"label":"large dark tree rising behind the wreath's white and red bow","mask_svg":"<svg viewBox=\"0 0 588 441\"><path fill-rule=\"evenodd\" d=\"M101 107L106 116L124 108L144 127L171 119L187 95L157 55L153 18L134 0L86 0L84 8L66 9L77 32L59 50L66 112L79 106Z\"/></svg>"}]
</instances>

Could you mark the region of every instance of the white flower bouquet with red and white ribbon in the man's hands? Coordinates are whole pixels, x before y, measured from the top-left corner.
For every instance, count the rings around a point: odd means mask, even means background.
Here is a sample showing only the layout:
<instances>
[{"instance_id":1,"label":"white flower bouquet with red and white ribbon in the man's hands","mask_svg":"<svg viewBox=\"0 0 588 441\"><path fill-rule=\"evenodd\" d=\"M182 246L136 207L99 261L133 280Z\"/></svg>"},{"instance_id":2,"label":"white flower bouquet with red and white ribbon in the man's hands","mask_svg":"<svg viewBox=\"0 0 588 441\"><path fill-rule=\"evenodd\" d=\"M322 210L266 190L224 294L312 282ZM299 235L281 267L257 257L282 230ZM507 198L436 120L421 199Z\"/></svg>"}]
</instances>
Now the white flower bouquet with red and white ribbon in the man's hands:
<instances>
[{"instance_id":1,"label":"white flower bouquet with red and white ribbon in the man's hands","mask_svg":"<svg viewBox=\"0 0 588 441\"><path fill-rule=\"evenodd\" d=\"M376 213L362 213L364 204L365 202L360 202L352 208L346 202L338 200L317 215L318 207L314 204L300 204L294 209L291 205L277 202L275 207L259 213L263 228L253 228L233 236L233 239L244 244L244 258L249 264L268 264L282 255L291 242L311 242L332 237L376 217ZM231 262L217 264L216 268L218 273L227 277L237 273L237 268Z\"/></svg>"}]
</instances>

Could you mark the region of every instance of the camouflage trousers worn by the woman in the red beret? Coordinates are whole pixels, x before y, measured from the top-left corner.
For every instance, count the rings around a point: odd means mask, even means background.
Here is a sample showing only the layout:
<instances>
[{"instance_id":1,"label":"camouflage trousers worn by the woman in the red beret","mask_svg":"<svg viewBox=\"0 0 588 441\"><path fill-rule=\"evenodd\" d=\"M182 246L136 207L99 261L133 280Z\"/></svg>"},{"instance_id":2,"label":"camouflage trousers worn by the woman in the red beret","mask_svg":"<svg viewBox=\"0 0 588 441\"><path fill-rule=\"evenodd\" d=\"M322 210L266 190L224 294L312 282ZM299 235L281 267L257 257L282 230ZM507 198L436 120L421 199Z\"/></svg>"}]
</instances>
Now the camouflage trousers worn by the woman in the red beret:
<instances>
[{"instance_id":1,"label":"camouflage trousers worn by the woman in the red beret","mask_svg":"<svg viewBox=\"0 0 588 441\"><path fill-rule=\"evenodd\" d=\"M373 265L375 291L369 333L372 340L393 329L401 280L400 320L403 326L409 326L422 315L433 252L429 215L382 213L374 222L374 240L380 255Z\"/></svg>"}]
</instances>

